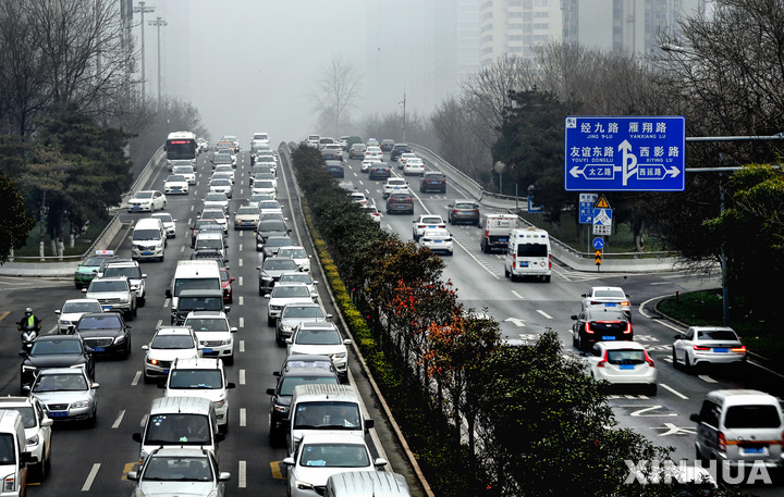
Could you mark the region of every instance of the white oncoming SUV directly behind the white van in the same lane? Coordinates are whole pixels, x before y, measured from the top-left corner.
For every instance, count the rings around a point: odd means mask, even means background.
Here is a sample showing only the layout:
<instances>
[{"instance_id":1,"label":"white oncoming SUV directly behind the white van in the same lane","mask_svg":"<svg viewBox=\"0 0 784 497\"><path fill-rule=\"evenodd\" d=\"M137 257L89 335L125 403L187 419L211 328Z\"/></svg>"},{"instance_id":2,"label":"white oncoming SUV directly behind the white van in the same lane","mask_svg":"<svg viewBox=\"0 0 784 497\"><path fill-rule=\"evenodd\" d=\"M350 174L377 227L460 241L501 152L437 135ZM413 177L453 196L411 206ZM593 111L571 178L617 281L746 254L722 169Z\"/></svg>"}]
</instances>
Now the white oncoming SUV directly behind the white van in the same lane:
<instances>
[{"instance_id":1,"label":"white oncoming SUV directly behind the white van in the same lane","mask_svg":"<svg viewBox=\"0 0 784 497\"><path fill-rule=\"evenodd\" d=\"M223 361L218 358L177 359L164 384L163 397L204 397L216 410L218 428L229 430L229 390L236 385L225 380Z\"/></svg>"}]
</instances>

